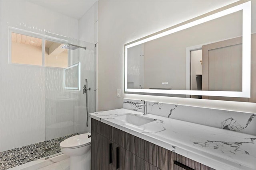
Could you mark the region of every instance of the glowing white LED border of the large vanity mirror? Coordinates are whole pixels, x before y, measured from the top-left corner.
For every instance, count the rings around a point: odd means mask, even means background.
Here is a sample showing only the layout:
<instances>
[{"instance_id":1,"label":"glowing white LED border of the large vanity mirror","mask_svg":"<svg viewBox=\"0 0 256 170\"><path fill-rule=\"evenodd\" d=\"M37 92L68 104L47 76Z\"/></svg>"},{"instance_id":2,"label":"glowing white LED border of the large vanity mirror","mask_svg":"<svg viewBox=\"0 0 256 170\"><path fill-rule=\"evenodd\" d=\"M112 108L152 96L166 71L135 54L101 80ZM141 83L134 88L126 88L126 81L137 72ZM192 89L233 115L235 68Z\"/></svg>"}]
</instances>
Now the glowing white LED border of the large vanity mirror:
<instances>
[{"instance_id":1,"label":"glowing white LED border of the large vanity mirror","mask_svg":"<svg viewBox=\"0 0 256 170\"><path fill-rule=\"evenodd\" d=\"M234 91L206 91L206 90L156 90L156 89L131 89L127 88L127 56L128 48L140 45L142 43L169 35L195 25L232 14L242 10L242 92ZM157 33L148 35L136 41L124 45L124 93L155 93L155 94L182 94L182 95L200 95L200 96L225 96L250 98L251 89L251 2L238 1L220 9L214 10L202 16L185 21L173 27L164 29Z\"/></svg>"}]
</instances>

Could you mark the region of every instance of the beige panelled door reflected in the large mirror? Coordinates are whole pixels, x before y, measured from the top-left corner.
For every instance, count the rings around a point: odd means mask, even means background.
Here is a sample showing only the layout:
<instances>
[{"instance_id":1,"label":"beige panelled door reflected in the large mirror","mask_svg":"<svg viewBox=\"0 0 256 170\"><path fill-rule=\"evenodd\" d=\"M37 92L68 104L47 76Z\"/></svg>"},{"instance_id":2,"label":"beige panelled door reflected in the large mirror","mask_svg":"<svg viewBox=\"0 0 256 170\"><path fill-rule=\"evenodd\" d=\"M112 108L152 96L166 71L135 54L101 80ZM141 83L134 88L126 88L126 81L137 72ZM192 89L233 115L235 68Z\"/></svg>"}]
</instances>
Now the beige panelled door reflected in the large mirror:
<instances>
[{"instance_id":1,"label":"beige panelled door reflected in the large mirror","mask_svg":"<svg viewBox=\"0 0 256 170\"><path fill-rule=\"evenodd\" d=\"M255 39L256 36L252 37ZM253 51L252 58L255 58ZM255 83L251 86L255 86ZM202 46L202 90L242 91L242 37ZM214 96L202 98L249 102L249 98Z\"/></svg>"}]
</instances>

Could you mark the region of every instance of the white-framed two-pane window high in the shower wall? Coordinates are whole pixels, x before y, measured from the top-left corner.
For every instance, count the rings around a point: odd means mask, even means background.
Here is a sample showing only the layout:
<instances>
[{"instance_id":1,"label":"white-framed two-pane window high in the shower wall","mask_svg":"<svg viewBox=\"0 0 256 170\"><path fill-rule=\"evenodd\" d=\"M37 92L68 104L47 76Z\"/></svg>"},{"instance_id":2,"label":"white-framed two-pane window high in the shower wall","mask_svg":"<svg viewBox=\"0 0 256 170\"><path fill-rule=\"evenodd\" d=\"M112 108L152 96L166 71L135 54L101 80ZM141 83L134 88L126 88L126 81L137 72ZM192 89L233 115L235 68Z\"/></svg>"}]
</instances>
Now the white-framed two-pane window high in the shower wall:
<instances>
[{"instance_id":1,"label":"white-framed two-pane window high in the shower wall","mask_svg":"<svg viewBox=\"0 0 256 170\"><path fill-rule=\"evenodd\" d=\"M45 35L10 29L9 63L56 68L68 67L68 49ZM46 62L47 61L47 62Z\"/></svg>"}]
</instances>

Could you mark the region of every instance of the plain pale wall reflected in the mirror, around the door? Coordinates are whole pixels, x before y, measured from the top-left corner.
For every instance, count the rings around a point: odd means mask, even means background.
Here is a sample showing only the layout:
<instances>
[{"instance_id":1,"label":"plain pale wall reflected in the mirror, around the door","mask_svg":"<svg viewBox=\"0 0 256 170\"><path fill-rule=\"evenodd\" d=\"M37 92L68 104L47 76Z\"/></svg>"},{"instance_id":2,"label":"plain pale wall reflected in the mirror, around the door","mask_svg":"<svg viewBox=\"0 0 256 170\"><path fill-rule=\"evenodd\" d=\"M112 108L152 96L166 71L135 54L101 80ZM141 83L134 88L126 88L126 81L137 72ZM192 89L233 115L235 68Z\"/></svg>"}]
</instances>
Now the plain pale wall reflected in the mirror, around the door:
<instances>
[{"instance_id":1,"label":"plain pale wall reflected in the mirror, around the door","mask_svg":"<svg viewBox=\"0 0 256 170\"><path fill-rule=\"evenodd\" d=\"M185 90L186 47L238 36L241 11L144 43L144 88Z\"/></svg>"}]
</instances>

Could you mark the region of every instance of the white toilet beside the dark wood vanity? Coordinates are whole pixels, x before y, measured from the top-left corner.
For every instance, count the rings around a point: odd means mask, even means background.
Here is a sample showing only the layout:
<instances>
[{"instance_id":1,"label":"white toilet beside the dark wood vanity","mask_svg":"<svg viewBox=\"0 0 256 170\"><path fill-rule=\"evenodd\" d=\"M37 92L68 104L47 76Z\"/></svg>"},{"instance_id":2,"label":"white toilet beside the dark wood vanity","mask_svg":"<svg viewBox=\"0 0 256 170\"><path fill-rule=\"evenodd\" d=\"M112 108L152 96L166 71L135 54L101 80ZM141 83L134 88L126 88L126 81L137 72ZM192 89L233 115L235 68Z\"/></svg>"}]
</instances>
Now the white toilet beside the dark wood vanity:
<instances>
[{"instance_id":1,"label":"white toilet beside the dark wood vanity","mask_svg":"<svg viewBox=\"0 0 256 170\"><path fill-rule=\"evenodd\" d=\"M62 153L70 156L70 170L91 169L91 134L72 136L60 143Z\"/></svg>"}]
</instances>

